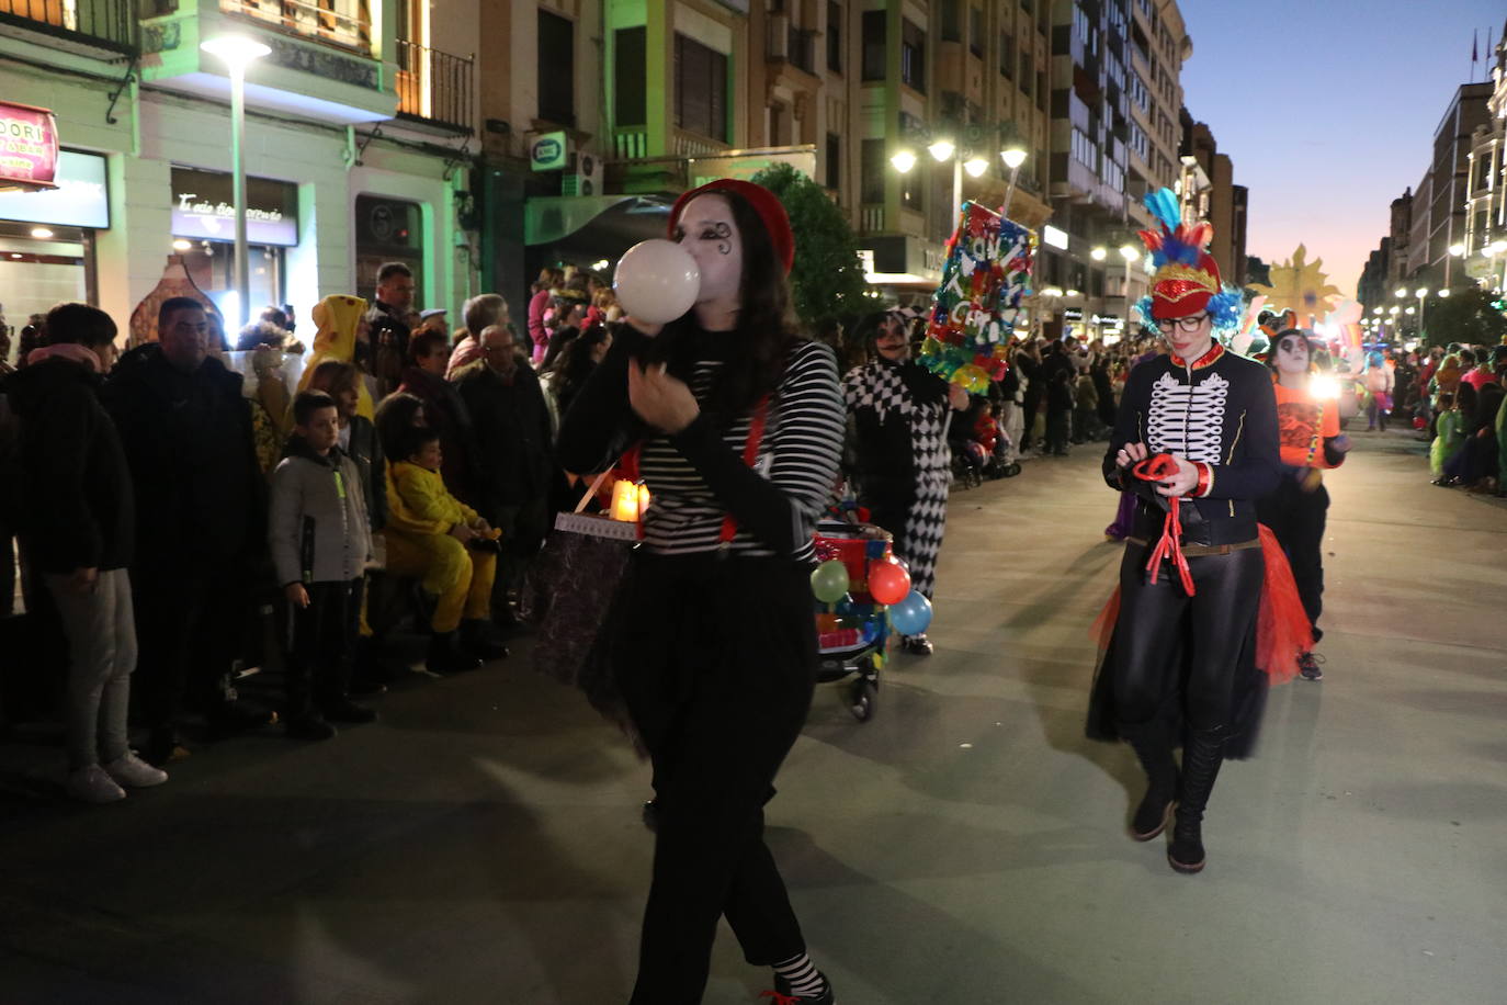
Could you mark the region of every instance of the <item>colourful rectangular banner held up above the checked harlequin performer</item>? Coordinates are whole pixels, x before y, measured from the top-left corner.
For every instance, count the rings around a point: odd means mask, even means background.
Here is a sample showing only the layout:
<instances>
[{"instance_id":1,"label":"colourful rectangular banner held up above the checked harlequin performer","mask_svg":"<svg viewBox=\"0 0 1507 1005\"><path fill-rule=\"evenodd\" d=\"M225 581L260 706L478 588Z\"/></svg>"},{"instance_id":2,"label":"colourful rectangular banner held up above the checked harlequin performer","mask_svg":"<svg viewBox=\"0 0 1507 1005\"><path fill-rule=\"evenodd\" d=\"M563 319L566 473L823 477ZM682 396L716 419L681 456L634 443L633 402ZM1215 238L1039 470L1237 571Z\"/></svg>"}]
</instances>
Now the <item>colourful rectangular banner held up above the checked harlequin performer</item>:
<instances>
[{"instance_id":1,"label":"colourful rectangular banner held up above the checked harlequin performer","mask_svg":"<svg viewBox=\"0 0 1507 1005\"><path fill-rule=\"evenodd\" d=\"M1023 226L963 203L946 243L942 285L921 345L922 366L975 395L1005 375L1020 298L1031 292L1034 247Z\"/></svg>"}]
</instances>

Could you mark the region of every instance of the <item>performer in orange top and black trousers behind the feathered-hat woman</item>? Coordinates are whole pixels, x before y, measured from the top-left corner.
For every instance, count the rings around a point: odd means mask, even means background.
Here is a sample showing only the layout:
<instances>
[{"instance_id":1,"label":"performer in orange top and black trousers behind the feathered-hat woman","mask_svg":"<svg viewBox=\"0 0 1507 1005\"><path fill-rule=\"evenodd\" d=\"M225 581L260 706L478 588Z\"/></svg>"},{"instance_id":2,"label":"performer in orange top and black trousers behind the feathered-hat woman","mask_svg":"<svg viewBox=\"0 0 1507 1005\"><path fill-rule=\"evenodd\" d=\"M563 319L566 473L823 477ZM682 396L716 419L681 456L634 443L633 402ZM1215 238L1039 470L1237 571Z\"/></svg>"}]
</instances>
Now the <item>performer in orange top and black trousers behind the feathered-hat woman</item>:
<instances>
[{"instance_id":1,"label":"performer in orange top and black trousers behind the feathered-hat woman","mask_svg":"<svg viewBox=\"0 0 1507 1005\"><path fill-rule=\"evenodd\" d=\"M1323 610L1322 545L1329 512L1323 473L1344 463L1350 437L1340 432L1338 402L1313 393L1313 344L1298 328L1279 331L1272 339L1266 365L1272 369L1276 392L1282 476L1276 491L1257 502L1255 512L1287 554L1317 643L1323 637L1319 630L1319 613ZM1298 672L1310 681L1323 677L1311 651L1298 657Z\"/></svg>"}]
</instances>

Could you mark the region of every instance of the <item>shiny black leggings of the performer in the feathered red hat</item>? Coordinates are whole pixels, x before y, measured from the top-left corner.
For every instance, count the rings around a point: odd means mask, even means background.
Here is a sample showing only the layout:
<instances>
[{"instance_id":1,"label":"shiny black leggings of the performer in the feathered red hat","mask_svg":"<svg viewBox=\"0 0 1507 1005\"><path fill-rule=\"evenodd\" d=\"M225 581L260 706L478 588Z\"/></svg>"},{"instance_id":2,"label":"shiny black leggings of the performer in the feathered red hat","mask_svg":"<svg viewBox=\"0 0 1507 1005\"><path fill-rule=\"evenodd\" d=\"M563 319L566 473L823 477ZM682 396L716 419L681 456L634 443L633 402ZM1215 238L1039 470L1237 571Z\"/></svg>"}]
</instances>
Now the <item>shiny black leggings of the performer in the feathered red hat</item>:
<instances>
[{"instance_id":1,"label":"shiny black leggings of the performer in the feathered red hat","mask_svg":"<svg viewBox=\"0 0 1507 1005\"><path fill-rule=\"evenodd\" d=\"M1121 722L1156 719L1174 675L1186 664L1185 711L1194 729L1228 726L1240 654L1255 642L1266 562L1261 548L1188 559L1195 594L1183 592L1171 562L1147 583L1150 548L1126 545L1115 624L1115 713Z\"/></svg>"}]
</instances>

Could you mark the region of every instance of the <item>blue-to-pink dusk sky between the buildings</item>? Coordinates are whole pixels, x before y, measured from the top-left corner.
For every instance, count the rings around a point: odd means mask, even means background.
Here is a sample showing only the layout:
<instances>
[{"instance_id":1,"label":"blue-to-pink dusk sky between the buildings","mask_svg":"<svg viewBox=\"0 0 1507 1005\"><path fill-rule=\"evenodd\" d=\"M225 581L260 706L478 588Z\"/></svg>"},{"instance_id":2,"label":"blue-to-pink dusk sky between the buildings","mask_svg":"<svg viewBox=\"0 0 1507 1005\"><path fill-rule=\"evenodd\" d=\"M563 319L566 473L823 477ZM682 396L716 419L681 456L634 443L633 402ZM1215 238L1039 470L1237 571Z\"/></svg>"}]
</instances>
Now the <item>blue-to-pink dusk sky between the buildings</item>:
<instances>
[{"instance_id":1,"label":"blue-to-pink dusk sky between the buildings","mask_svg":"<svg viewBox=\"0 0 1507 1005\"><path fill-rule=\"evenodd\" d=\"M1194 56L1183 101L1251 190L1246 252L1299 243L1355 295L1391 202L1429 166L1454 90L1489 80L1507 0L1180 0Z\"/></svg>"}]
</instances>

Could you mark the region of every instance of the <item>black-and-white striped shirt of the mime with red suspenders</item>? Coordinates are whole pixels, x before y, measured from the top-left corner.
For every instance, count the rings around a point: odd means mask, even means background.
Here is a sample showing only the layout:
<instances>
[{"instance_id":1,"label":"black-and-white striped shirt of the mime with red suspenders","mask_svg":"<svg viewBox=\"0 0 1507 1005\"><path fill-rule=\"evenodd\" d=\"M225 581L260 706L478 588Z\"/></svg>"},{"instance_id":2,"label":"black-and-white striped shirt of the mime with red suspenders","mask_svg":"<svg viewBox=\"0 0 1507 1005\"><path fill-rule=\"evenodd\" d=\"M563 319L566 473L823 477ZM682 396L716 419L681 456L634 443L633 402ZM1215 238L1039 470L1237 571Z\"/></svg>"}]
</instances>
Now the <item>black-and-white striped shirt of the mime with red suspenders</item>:
<instances>
[{"instance_id":1,"label":"black-and-white striped shirt of the mime with red suspenders","mask_svg":"<svg viewBox=\"0 0 1507 1005\"><path fill-rule=\"evenodd\" d=\"M601 402L621 395L625 402L625 344L634 334L613 344L582 398L591 395ZM619 353L621 374L610 365ZM695 363L687 383L698 401L705 401L722 365L717 359ZM600 386L609 381L613 386ZM594 408L598 402L577 401L561 429L567 470L589 470L592 451L601 451L594 441L600 435L591 435L586 420L588 411L595 413L592 422L600 429L604 416ZM719 429L704 411L678 434L656 434L643 441L639 470L651 496L645 547L657 554L716 551L722 547L723 517L731 512L737 520L737 536L728 545L734 554L814 559L811 535L838 476L845 428L832 350L820 342L791 347L752 467L743 463L750 423L749 414Z\"/></svg>"}]
</instances>

